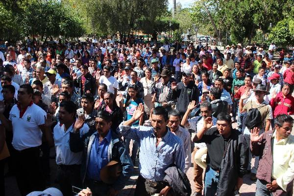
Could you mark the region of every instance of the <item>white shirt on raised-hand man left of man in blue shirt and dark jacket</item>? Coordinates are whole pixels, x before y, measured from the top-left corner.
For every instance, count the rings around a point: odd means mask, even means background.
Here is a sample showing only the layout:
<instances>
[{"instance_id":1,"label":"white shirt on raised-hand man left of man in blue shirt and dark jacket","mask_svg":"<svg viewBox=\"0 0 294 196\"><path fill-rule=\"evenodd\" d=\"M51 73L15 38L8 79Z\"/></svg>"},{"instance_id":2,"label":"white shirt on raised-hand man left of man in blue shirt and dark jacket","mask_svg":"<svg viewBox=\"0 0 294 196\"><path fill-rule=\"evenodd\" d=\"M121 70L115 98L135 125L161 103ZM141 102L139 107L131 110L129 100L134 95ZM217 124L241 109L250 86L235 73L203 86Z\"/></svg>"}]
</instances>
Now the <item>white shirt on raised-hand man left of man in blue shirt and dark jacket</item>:
<instances>
[{"instance_id":1,"label":"white shirt on raised-hand man left of man in blue shirt and dark jacket","mask_svg":"<svg viewBox=\"0 0 294 196\"><path fill-rule=\"evenodd\" d=\"M74 124L74 123L73 123ZM70 149L70 132L73 132L73 124L64 131L64 124L57 123L53 129L53 139L56 150L56 164L57 165L73 165L81 164L83 152L72 152ZM89 131L89 126L84 123L80 128L80 136Z\"/></svg>"}]
</instances>

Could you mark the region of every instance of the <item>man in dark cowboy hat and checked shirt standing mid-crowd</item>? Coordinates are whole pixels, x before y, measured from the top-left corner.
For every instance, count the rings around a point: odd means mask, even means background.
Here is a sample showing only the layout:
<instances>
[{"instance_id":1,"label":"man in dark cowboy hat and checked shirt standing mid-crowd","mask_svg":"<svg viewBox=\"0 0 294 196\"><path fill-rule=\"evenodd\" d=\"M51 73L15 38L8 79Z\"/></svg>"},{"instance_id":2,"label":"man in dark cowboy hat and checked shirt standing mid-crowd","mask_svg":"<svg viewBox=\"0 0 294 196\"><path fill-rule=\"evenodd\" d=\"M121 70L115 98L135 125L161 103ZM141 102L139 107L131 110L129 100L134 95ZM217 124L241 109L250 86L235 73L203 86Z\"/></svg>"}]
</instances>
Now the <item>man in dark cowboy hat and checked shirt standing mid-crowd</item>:
<instances>
[{"instance_id":1,"label":"man in dark cowboy hat and checked shirt standing mid-crowd","mask_svg":"<svg viewBox=\"0 0 294 196\"><path fill-rule=\"evenodd\" d=\"M172 109L172 105L175 104L174 99L172 97L172 81L171 79L171 73L168 68L164 68L160 74L162 77L162 82L158 82L155 84L155 88L152 89L152 102L154 103L154 106L163 106L167 110Z\"/></svg>"}]
</instances>

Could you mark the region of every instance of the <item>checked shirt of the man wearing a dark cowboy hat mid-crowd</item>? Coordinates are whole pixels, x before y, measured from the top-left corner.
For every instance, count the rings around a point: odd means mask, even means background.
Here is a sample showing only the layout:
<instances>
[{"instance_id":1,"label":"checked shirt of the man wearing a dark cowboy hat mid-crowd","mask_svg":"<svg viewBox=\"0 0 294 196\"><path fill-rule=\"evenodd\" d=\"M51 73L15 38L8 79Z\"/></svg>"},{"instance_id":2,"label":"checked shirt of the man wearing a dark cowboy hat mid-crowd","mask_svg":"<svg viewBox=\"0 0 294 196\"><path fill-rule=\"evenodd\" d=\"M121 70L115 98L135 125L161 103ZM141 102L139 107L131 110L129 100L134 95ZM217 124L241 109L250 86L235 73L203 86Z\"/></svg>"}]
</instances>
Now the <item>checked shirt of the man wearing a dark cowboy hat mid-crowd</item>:
<instances>
[{"instance_id":1,"label":"checked shirt of the man wearing a dark cowboy hat mid-crowd","mask_svg":"<svg viewBox=\"0 0 294 196\"><path fill-rule=\"evenodd\" d=\"M174 101L172 99L172 82L169 81L167 84L164 82L158 82L152 89L152 94L156 93L156 102L163 103Z\"/></svg>"}]
</instances>

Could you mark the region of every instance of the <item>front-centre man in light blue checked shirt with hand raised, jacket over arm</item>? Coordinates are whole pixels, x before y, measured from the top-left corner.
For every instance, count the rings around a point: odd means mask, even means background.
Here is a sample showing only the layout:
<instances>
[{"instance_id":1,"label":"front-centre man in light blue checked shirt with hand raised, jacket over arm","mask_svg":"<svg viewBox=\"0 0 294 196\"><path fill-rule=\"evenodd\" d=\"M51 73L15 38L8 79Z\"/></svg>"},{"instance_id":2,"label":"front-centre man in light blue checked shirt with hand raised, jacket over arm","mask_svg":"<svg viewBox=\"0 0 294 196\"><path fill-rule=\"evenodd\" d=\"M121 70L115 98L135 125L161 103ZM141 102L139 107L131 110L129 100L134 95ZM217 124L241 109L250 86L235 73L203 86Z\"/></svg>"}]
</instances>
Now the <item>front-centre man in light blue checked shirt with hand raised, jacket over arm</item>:
<instances>
[{"instance_id":1,"label":"front-centre man in light blue checked shirt with hand raised, jacket over arm","mask_svg":"<svg viewBox=\"0 0 294 196\"><path fill-rule=\"evenodd\" d=\"M166 126L169 122L168 112L162 106L153 109L152 127L131 127L144 114L144 105L139 104L133 117L120 124L123 137L140 143L140 175L134 196L166 195L170 187L163 182L164 171L175 163L184 172L185 151L183 142L172 134Z\"/></svg>"}]
</instances>

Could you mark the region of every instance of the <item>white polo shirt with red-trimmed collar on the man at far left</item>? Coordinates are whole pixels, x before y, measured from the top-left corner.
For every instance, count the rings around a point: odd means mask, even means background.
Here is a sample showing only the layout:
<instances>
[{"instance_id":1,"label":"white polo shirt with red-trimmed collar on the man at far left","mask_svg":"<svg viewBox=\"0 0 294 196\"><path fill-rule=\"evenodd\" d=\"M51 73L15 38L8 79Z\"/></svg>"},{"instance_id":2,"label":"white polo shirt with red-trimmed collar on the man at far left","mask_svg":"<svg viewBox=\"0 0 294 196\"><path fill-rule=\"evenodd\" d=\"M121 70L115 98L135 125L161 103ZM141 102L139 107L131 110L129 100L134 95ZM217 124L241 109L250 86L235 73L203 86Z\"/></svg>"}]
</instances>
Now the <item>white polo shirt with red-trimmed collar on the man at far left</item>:
<instances>
[{"instance_id":1,"label":"white polo shirt with red-trimmed collar on the man at far left","mask_svg":"<svg viewBox=\"0 0 294 196\"><path fill-rule=\"evenodd\" d=\"M46 112L34 103L26 108L20 118L20 110L14 105L9 113L13 130L12 146L17 150L40 146L42 131L39 126L45 124L45 118Z\"/></svg>"}]
</instances>

